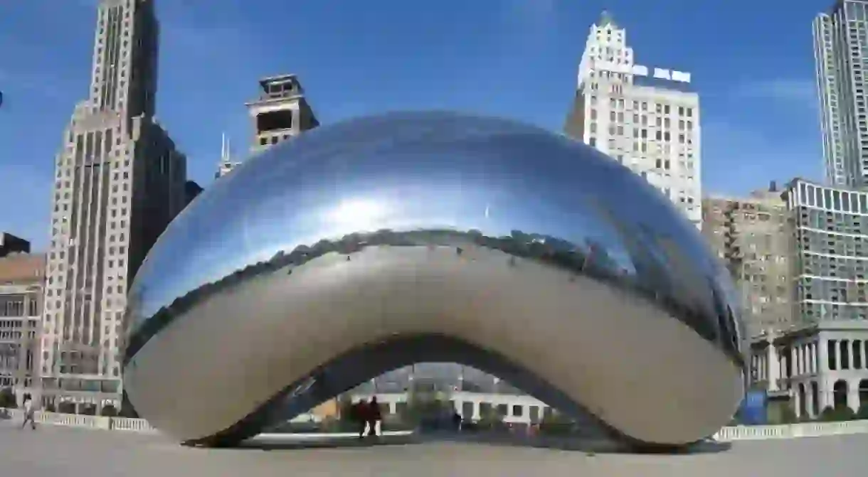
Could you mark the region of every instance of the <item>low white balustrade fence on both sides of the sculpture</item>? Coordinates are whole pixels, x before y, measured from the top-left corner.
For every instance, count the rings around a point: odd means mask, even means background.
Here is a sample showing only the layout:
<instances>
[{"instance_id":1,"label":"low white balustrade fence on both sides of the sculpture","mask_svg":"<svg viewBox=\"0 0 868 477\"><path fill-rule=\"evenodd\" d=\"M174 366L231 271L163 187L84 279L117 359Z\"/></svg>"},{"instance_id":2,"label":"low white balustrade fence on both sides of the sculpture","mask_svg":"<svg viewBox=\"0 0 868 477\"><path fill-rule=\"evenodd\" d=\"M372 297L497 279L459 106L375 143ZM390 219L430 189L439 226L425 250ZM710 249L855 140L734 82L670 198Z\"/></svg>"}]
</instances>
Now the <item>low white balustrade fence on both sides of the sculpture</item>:
<instances>
[{"instance_id":1,"label":"low white balustrade fence on both sides of the sculpture","mask_svg":"<svg viewBox=\"0 0 868 477\"><path fill-rule=\"evenodd\" d=\"M5 409L10 419L21 421L20 409ZM140 433L155 433L148 421L129 417L108 417L102 415L75 415L36 411L36 422L51 426L69 426ZM801 422L775 426L727 426L712 436L714 441L764 441L767 439L797 439L799 437L821 437L827 435L868 434L868 420L840 422ZM306 438L316 433L299 435Z\"/></svg>"}]
</instances>

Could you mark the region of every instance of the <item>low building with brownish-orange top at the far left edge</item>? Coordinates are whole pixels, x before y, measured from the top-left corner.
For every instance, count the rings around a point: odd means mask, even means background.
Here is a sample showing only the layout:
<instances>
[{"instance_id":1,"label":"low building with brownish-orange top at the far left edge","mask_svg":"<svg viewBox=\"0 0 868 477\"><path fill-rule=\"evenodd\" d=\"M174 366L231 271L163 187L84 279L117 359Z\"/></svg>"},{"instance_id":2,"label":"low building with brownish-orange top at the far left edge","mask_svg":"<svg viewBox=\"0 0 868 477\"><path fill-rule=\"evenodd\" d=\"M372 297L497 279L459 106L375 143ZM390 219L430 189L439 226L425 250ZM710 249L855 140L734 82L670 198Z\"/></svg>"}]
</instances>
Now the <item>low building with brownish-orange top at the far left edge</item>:
<instances>
[{"instance_id":1,"label":"low building with brownish-orange top at the far left edge","mask_svg":"<svg viewBox=\"0 0 868 477\"><path fill-rule=\"evenodd\" d=\"M0 389L13 389L19 402L39 394L44 283L44 255L0 258Z\"/></svg>"}]
</instances>

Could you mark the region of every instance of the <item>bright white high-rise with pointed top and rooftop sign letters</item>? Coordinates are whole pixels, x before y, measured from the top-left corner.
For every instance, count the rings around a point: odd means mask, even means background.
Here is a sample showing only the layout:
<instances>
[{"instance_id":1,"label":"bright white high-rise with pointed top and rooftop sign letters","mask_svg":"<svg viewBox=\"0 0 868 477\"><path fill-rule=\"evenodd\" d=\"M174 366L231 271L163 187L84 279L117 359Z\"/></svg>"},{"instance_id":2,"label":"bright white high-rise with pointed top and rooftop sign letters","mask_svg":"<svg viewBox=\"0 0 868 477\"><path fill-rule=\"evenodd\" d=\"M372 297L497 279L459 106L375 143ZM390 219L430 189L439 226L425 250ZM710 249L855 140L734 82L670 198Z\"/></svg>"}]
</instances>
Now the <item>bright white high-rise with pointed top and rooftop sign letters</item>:
<instances>
[{"instance_id":1,"label":"bright white high-rise with pointed top and rooftop sign letters","mask_svg":"<svg viewBox=\"0 0 868 477\"><path fill-rule=\"evenodd\" d=\"M608 154L701 227L700 100L690 74L635 62L627 30L591 25L564 132Z\"/></svg>"}]
</instances>

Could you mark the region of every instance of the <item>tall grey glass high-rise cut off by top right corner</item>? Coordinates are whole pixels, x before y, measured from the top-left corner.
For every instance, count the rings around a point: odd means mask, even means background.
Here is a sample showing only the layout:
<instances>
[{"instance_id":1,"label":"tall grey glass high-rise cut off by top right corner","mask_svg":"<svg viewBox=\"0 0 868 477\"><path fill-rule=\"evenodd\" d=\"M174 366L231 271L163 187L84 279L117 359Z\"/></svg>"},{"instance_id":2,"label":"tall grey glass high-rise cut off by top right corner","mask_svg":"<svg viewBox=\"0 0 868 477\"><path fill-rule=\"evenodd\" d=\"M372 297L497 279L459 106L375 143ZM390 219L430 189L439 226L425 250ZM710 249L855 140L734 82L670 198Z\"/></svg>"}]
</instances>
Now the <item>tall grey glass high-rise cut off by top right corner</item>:
<instances>
[{"instance_id":1,"label":"tall grey glass high-rise cut off by top right corner","mask_svg":"<svg viewBox=\"0 0 868 477\"><path fill-rule=\"evenodd\" d=\"M813 22L825 180L832 186L868 185L866 20L868 0L838 0Z\"/></svg>"}]
</instances>

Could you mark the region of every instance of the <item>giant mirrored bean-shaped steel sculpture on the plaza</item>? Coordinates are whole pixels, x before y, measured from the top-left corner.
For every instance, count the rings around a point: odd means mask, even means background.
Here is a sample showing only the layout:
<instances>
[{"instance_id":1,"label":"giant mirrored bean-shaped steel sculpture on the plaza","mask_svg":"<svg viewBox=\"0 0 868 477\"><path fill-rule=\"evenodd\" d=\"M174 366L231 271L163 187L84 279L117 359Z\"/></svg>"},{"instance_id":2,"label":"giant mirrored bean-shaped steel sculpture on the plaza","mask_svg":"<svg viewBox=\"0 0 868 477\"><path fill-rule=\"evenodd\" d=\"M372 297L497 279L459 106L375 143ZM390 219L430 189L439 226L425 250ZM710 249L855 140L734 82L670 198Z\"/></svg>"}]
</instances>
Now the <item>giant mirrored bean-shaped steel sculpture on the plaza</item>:
<instances>
[{"instance_id":1,"label":"giant mirrored bean-shaped steel sculpture on the plaza","mask_svg":"<svg viewBox=\"0 0 868 477\"><path fill-rule=\"evenodd\" d=\"M737 297L699 232L591 147L393 113L260 154L169 225L130 291L124 392L232 445L391 369L464 363L674 448L744 391Z\"/></svg>"}]
</instances>

